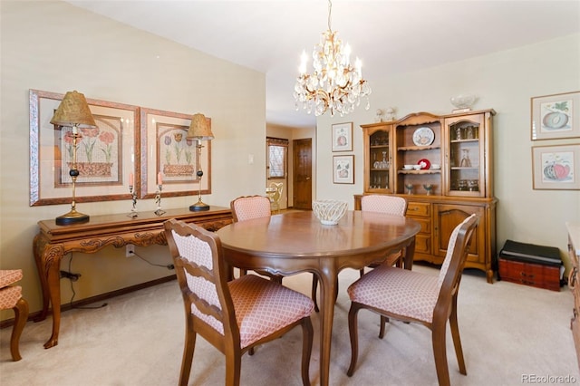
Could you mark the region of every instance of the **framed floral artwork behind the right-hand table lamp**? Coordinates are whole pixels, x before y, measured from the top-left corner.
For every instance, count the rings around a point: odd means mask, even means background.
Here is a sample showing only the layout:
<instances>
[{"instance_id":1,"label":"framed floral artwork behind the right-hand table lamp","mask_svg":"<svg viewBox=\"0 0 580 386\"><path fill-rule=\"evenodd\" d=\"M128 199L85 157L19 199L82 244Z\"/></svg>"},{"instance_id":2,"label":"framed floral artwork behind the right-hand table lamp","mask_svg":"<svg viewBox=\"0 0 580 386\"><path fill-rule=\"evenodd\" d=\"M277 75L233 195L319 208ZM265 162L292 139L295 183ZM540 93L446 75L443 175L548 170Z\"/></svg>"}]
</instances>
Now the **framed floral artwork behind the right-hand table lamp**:
<instances>
[{"instance_id":1,"label":"framed floral artwork behind the right-hand table lamp","mask_svg":"<svg viewBox=\"0 0 580 386\"><path fill-rule=\"evenodd\" d=\"M199 154L198 141L187 138L193 114L145 108L140 114L140 197L154 198L159 179L162 197L211 193L211 141L200 143Z\"/></svg>"}]
</instances>

